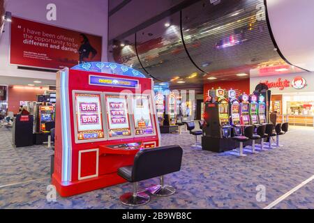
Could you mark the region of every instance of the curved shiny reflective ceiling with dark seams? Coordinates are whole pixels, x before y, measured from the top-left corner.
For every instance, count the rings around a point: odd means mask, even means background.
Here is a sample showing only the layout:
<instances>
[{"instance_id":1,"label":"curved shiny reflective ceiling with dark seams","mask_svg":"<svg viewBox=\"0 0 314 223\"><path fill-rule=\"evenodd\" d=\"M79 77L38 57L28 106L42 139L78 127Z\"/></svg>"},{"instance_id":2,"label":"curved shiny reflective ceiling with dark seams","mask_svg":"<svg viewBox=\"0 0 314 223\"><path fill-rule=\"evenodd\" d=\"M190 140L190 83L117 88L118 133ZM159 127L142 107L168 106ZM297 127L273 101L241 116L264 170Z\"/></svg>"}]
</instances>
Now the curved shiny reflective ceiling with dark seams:
<instances>
[{"instance_id":1,"label":"curved shiny reflective ceiling with dark seams","mask_svg":"<svg viewBox=\"0 0 314 223\"><path fill-rule=\"evenodd\" d=\"M114 40L112 58L172 86L304 72L281 58L261 2L197 1Z\"/></svg>"}]
</instances>

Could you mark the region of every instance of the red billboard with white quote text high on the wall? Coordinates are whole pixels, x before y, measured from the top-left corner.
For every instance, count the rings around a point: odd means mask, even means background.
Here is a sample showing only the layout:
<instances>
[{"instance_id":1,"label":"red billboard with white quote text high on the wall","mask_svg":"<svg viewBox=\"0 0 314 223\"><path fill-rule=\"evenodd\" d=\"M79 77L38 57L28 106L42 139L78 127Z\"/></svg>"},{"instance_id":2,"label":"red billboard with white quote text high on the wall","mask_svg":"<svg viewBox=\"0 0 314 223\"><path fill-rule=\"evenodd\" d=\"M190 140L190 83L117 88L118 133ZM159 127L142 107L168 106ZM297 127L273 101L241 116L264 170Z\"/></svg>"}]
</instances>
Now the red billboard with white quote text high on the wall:
<instances>
[{"instance_id":1,"label":"red billboard with white quote text high on the wall","mask_svg":"<svg viewBox=\"0 0 314 223\"><path fill-rule=\"evenodd\" d=\"M102 37L12 18L10 63L60 69L101 61Z\"/></svg>"}]
</instances>

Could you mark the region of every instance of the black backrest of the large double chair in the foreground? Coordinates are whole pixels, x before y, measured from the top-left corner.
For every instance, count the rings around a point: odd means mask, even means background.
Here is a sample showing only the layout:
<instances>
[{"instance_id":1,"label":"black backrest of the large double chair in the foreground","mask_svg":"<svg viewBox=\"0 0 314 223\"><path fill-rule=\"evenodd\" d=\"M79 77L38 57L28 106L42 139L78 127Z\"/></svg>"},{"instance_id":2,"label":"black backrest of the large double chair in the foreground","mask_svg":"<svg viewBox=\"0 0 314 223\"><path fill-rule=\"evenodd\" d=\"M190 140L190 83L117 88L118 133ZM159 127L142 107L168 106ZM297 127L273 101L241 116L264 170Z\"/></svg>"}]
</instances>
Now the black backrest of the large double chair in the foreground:
<instances>
[{"instance_id":1,"label":"black backrest of the large double chair in the foreground","mask_svg":"<svg viewBox=\"0 0 314 223\"><path fill-rule=\"evenodd\" d=\"M179 171L182 154L181 146L161 146L138 152L134 158L132 180L147 180Z\"/></svg>"}]
</instances>

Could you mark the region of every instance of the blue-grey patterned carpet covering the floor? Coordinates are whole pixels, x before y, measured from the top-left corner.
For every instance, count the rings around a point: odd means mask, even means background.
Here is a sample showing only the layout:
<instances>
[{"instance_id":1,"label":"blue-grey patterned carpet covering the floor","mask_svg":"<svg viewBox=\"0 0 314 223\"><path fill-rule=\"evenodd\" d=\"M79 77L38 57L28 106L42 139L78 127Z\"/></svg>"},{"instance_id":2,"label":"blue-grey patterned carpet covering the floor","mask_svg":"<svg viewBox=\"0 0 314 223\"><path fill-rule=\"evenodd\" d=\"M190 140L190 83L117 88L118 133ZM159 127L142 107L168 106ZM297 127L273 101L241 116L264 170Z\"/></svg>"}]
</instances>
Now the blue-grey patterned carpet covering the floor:
<instances>
[{"instance_id":1,"label":"blue-grey patterned carpet covering the floor","mask_svg":"<svg viewBox=\"0 0 314 223\"><path fill-rule=\"evenodd\" d=\"M119 196L129 183L47 202L50 155L45 146L13 148L11 132L0 129L0 208L128 208ZM193 148L189 134L163 134L163 145L184 148L181 171L166 176L177 188L171 197L151 197L137 208L264 208L314 174L314 130L293 129L281 137L281 148L237 157ZM140 183L140 188L158 179ZM266 187L266 201L256 200L257 185ZM314 181L274 208L314 208Z\"/></svg>"}]
</instances>

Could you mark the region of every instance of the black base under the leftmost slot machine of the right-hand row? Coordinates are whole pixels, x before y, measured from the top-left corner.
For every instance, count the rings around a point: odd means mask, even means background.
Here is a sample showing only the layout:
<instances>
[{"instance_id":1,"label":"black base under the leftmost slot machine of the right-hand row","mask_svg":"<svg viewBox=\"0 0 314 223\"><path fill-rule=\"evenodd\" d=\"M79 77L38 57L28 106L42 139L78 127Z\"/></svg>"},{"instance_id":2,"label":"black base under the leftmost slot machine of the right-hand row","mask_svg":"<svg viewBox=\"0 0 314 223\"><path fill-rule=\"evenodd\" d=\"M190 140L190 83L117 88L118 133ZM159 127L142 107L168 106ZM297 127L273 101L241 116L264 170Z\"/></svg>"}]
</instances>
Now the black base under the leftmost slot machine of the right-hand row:
<instances>
[{"instance_id":1,"label":"black base under the leftmost slot machine of the right-hand row","mask_svg":"<svg viewBox=\"0 0 314 223\"><path fill-rule=\"evenodd\" d=\"M231 138L202 137L202 149L205 151L223 153L234 148L236 148L236 144Z\"/></svg>"}]
</instances>

